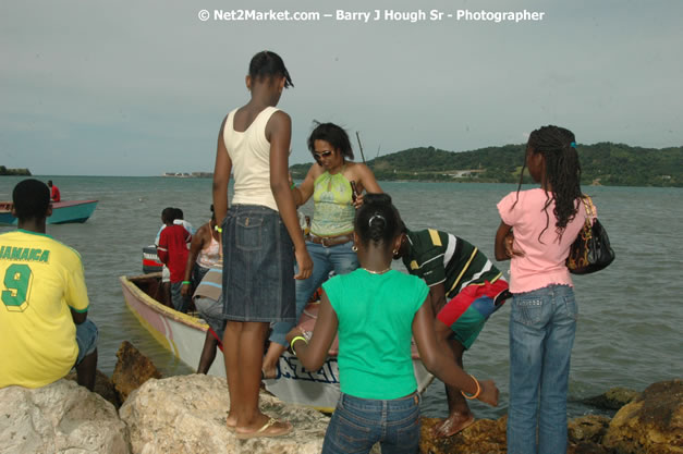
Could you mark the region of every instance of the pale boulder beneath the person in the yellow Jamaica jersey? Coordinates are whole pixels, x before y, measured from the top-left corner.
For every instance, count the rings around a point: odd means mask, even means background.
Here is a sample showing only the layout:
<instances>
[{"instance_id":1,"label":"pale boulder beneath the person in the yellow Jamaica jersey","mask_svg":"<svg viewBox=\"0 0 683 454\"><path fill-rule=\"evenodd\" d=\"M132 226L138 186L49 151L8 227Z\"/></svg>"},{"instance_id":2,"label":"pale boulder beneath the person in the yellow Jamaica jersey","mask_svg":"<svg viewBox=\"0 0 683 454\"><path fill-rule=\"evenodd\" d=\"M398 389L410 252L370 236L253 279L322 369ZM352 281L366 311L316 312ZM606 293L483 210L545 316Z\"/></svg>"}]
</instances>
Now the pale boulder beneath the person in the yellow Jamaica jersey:
<instances>
[{"instance_id":1,"label":"pale boulder beneath the person in the yellow Jamaica jersey","mask_svg":"<svg viewBox=\"0 0 683 454\"><path fill-rule=\"evenodd\" d=\"M0 453L125 454L113 405L71 380L0 389Z\"/></svg>"}]
</instances>

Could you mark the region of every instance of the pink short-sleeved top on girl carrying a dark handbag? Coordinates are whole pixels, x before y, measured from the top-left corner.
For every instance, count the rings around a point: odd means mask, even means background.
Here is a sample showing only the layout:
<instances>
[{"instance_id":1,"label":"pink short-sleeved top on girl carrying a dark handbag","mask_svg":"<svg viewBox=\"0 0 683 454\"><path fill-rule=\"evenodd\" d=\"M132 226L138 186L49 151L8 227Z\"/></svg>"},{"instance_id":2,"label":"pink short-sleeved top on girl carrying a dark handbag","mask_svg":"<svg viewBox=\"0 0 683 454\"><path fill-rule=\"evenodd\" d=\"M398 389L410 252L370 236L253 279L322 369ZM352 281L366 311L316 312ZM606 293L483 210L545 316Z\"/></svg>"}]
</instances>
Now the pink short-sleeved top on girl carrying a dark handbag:
<instances>
[{"instance_id":1,"label":"pink short-sleeved top on girl carrying a dark handbag","mask_svg":"<svg viewBox=\"0 0 683 454\"><path fill-rule=\"evenodd\" d=\"M564 265L569 248L576 240L586 220L583 204L572 221L566 224L562 237L556 231L556 217L552 213L554 200L548 206L548 229L544 205L552 197L541 188L510 193L498 203L498 212L502 221L514 228L514 248L524 251L523 257L513 257L510 263L510 292L523 293L542 289L550 284L573 286L570 272ZM581 204L576 199L576 204ZM512 207L514 205L514 208ZM542 243L541 243L542 242Z\"/></svg>"}]
</instances>

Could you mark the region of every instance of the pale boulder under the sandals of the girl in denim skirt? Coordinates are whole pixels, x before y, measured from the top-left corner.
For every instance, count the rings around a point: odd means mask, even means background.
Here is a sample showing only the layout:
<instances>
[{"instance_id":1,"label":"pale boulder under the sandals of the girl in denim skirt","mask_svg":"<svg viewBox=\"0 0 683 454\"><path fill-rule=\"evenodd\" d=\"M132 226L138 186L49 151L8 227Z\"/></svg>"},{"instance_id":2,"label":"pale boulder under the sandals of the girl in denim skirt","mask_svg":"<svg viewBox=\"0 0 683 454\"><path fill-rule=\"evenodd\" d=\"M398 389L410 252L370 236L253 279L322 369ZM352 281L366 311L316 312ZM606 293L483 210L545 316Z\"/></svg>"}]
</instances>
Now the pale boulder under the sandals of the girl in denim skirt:
<instances>
[{"instance_id":1,"label":"pale boulder under the sandals of the girl in denim skirt","mask_svg":"<svg viewBox=\"0 0 683 454\"><path fill-rule=\"evenodd\" d=\"M322 447L329 418L319 412L261 394L261 412L292 422L294 430L285 437L237 440L225 427L229 407L223 379L190 375L148 380L119 414L129 426L134 453L317 454Z\"/></svg>"}]
</instances>

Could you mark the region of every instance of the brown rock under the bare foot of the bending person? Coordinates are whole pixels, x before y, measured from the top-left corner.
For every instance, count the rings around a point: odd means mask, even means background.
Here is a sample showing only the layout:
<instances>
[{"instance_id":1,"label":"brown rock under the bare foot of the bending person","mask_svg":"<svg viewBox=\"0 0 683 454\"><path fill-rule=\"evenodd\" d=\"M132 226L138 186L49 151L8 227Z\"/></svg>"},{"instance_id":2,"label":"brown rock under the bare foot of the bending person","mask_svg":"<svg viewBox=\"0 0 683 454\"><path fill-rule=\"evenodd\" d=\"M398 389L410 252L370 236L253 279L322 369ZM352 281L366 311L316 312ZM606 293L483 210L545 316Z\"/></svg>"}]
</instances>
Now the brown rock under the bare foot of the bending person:
<instances>
[{"instance_id":1,"label":"brown rock under the bare foot of the bending person","mask_svg":"<svg viewBox=\"0 0 683 454\"><path fill-rule=\"evenodd\" d=\"M419 452L423 454L504 454L508 450L505 426L508 417L497 420L477 419L460 433L448 438L432 435L434 428L441 420L423 418L419 438Z\"/></svg>"}]
</instances>

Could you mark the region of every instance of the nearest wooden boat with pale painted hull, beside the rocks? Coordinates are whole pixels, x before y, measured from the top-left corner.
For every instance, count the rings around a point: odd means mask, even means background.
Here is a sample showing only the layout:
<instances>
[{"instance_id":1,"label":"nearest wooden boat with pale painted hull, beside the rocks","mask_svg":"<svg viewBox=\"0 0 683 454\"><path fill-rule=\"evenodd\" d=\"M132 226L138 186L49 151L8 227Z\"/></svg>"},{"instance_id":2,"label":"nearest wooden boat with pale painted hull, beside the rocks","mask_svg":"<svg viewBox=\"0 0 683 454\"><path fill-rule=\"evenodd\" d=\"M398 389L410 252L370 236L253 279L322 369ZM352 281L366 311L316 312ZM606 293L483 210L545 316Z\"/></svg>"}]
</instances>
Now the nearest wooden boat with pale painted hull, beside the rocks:
<instances>
[{"instance_id":1,"label":"nearest wooden boat with pale painted hull, beside the rocks","mask_svg":"<svg viewBox=\"0 0 683 454\"><path fill-rule=\"evenodd\" d=\"M150 273L119 279L125 303L139 322L161 345L194 369L199 364L199 355L208 326L197 317L180 314L156 300L155 296L160 287L160 278L161 273ZM318 305L319 303L310 303L306 306L300 320L300 326L305 330L313 330ZM414 344L412 348L417 389L423 392L434 377L419 360ZM296 356L284 352L278 364L277 378L264 382L266 390L283 402L305 405L322 412L332 412L337 406L340 392L336 340L320 370L309 371L304 369ZM225 377L221 355L217 355L209 373Z\"/></svg>"}]
</instances>

